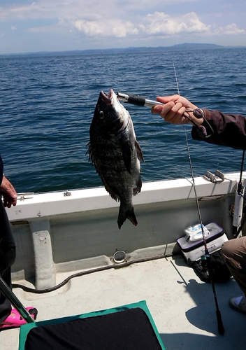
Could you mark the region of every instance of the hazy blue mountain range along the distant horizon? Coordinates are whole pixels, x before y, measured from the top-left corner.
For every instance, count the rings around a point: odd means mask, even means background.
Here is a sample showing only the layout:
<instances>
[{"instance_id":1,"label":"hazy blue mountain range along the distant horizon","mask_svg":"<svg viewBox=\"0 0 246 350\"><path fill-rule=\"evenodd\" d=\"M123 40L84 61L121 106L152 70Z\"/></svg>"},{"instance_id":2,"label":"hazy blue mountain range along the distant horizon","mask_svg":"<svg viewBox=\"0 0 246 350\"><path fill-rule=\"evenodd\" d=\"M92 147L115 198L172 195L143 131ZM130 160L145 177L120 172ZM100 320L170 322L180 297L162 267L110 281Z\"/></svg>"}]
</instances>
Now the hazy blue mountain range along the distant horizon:
<instances>
[{"instance_id":1,"label":"hazy blue mountain range along the distant horizon","mask_svg":"<svg viewBox=\"0 0 246 350\"><path fill-rule=\"evenodd\" d=\"M91 49L91 50L73 50L73 51L45 51L45 52L24 52L22 54L12 55L100 55L100 54L114 54L114 53L129 53L129 52L161 52L168 50L214 50L230 48L229 46L222 46L210 43L182 43L172 46L158 46L158 47L129 47L129 48L106 48L106 49ZM232 47L231 47L232 48Z\"/></svg>"}]
</instances>

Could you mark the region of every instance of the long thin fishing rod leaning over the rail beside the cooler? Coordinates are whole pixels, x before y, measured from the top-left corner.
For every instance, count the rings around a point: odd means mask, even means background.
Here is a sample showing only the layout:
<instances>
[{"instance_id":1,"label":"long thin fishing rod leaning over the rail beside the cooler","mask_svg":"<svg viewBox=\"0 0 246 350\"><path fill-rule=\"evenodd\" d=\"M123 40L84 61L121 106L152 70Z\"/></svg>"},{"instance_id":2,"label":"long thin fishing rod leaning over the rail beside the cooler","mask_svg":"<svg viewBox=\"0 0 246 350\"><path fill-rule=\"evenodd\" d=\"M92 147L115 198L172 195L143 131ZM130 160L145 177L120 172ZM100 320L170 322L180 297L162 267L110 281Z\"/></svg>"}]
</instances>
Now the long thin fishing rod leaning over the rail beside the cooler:
<instances>
[{"instance_id":1,"label":"long thin fishing rod leaning over the rail beside the cooler","mask_svg":"<svg viewBox=\"0 0 246 350\"><path fill-rule=\"evenodd\" d=\"M180 89L178 86L178 78L177 78L177 73L176 73L176 69L175 69L175 64L173 62L173 69L174 69L174 73L175 73L175 80L176 80L176 85L178 88L178 94L180 96ZM185 135L185 140L186 140L186 145L187 145L187 153L188 153L188 158L189 158L189 166L191 169L191 177L192 177L192 183L193 183L193 188L194 188L194 194L195 194L195 198L196 198L196 207L197 207L197 211L198 211L198 217L199 217L199 222L201 225L201 232L202 232L202 237L203 237L203 244L204 244L204 248L205 248L205 260L208 264L208 275L210 276L210 281L211 281L211 285L212 285L212 291L213 291L213 295L214 295L214 299L215 299L215 307L216 307L216 316L217 316L217 323L218 323L218 330L219 330L219 334L224 334L224 325L222 322L222 316L220 314L219 311L219 304L217 301L217 295L216 295L216 291L215 291L215 283L211 278L211 274L210 274L210 254L208 252L208 246L207 246L207 242L205 239L205 233L203 230L203 223L202 223L202 219L201 219L201 210L200 210L200 206L198 203L198 197L197 197L197 193L196 193L196 186L195 186L195 179L194 179L194 172L193 172L193 167L192 167L192 163L191 163L191 153L189 151L189 143L188 143L188 138L187 138L187 131L184 125L184 135Z\"/></svg>"}]
</instances>

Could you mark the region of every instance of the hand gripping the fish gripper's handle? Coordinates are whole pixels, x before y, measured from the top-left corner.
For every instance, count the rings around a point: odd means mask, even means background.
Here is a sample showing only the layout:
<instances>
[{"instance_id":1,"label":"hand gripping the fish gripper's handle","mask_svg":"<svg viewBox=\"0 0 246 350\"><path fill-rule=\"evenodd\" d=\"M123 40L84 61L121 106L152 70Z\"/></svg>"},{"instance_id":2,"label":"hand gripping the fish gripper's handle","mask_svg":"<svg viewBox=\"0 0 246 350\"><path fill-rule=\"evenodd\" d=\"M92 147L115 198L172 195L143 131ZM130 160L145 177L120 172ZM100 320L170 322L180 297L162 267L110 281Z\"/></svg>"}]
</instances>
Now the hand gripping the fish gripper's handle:
<instances>
[{"instance_id":1,"label":"hand gripping the fish gripper's handle","mask_svg":"<svg viewBox=\"0 0 246 350\"><path fill-rule=\"evenodd\" d=\"M171 124L192 124L191 120L193 120L198 126L203 123L203 119L198 119L192 112L187 112L193 111L198 107L191 104L191 102L189 102L189 100L185 97L174 94L173 96L157 97L157 101L164 103L164 106L154 106L152 108L152 113L159 113L159 115L164 118L166 122ZM184 113L188 115L191 120L186 118Z\"/></svg>"}]
</instances>

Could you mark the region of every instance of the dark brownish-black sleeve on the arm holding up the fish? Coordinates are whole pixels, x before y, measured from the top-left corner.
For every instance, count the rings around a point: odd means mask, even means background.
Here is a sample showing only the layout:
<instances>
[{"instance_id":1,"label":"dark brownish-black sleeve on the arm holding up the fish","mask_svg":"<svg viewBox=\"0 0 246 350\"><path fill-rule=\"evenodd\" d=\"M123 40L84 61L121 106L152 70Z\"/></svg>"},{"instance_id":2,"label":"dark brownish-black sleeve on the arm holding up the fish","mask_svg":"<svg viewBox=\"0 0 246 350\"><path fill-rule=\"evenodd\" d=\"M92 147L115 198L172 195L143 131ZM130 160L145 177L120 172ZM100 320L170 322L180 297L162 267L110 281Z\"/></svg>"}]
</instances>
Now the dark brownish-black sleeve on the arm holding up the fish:
<instances>
[{"instance_id":1,"label":"dark brownish-black sleeve on the arm holding up the fish","mask_svg":"<svg viewBox=\"0 0 246 350\"><path fill-rule=\"evenodd\" d=\"M209 144L228 146L237 149L246 149L246 118L239 114L224 114L220 111L203 109L205 119L211 125L213 134L203 139L196 127L192 127L191 135L195 140L203 140ZM211 130L203 122L208 134Z\"/></svg>"}]
</instances>

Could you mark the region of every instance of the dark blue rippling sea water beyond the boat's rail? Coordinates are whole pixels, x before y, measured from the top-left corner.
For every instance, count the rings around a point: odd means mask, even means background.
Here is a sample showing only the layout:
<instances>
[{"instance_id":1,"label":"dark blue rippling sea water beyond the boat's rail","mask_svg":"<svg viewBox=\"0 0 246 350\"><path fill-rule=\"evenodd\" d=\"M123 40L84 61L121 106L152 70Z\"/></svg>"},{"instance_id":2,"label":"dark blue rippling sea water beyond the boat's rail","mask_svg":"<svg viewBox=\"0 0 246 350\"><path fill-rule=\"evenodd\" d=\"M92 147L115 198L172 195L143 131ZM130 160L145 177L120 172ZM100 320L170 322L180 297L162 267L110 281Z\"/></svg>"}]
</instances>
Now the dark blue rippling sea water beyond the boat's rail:
<instances>
[{"instance_id":1,"label":"dark blue rippling sea water beyond the boat's rail","mask_svg":"<svg viewBox=\"0 0 246 350\"><path fill-rule=\"evenodd\" d=\"M201 108L246 116L246 48L99 55L0 56L0 153L18 193L101 186L88 162L89 125L99 92L149 99L177 93ZM143 181L190 176L182 125L125 105L145 163ZM191 139L194 175L240 170L242 151Z\"/></svg>"}]
</instances>

